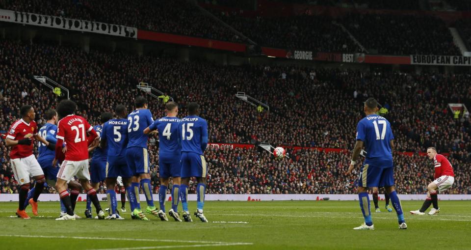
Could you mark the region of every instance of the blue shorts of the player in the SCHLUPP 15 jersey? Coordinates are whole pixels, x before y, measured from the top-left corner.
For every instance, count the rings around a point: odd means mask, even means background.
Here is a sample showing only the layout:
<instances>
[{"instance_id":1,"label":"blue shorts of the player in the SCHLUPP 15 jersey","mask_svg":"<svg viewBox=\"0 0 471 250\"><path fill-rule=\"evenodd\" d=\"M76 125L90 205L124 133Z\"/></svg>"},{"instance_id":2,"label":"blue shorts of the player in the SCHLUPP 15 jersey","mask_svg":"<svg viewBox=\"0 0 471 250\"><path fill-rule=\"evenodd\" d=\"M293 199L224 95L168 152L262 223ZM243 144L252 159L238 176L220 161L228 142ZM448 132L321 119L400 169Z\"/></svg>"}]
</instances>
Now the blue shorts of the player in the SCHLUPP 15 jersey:
<instances>
[{"instance_id":1,"label":"blue shorts of the player in the SCHLUPP 15 jersey","mask_svg":"<svg viewBox=\"0 0 471 250\"><path fill-rule=\"evenodd\" d=\"M182 178L206 177L208 167L205 157L194 152L182 152Z\"/></svg>"}]
</instances>

